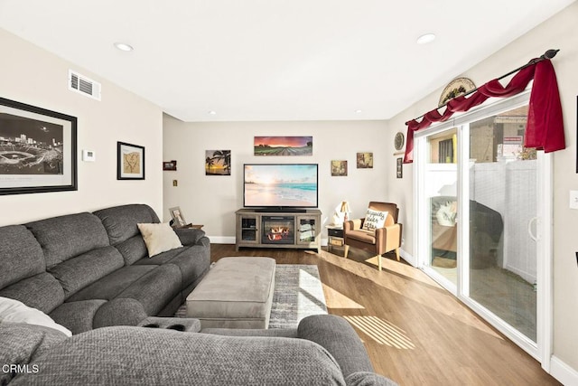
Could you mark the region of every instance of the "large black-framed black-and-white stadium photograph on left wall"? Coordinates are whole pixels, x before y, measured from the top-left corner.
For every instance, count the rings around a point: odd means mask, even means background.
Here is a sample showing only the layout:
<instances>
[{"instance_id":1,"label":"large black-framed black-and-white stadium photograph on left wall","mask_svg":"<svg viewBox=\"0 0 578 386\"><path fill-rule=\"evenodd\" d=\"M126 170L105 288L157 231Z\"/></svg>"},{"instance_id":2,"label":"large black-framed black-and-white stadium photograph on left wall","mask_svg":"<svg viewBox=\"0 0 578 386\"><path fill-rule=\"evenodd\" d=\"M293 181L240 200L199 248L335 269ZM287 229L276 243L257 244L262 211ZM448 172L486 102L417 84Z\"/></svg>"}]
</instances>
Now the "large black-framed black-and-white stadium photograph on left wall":
<instances>
[{"instance_id":1,"label":"large black-framed black-and-white stadium photograph on left wall","mask_svg":"<svg viewBox=\"0 0 578 386\"><path fill-rule=\"evenodd\" d=\"M76 191L77 118L0 98L0 194Z\"/></svg>"}]
</instances>

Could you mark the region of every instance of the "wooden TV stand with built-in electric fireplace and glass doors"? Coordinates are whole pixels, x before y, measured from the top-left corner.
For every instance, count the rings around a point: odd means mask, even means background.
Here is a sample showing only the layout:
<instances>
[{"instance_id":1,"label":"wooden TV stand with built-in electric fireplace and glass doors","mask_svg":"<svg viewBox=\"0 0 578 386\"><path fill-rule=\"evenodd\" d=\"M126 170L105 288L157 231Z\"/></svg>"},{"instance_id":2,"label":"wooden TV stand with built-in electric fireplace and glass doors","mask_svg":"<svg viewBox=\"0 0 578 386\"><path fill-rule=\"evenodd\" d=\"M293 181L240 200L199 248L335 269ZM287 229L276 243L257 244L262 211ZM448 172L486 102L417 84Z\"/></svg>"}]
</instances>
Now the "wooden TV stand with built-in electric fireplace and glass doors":
<instances>
[{"instance_id":1,"label":"wooden TV stand with built-in electric fireplace and glass doors","mask_svg":"<svg viewBox=\"0 0 578 386\"><path fill-rule=\"evenodd\" d=\"M239 209L235 249L250 248L322 248L322 212L266 212L263 209Z\"/></svg>"}]
</instances>

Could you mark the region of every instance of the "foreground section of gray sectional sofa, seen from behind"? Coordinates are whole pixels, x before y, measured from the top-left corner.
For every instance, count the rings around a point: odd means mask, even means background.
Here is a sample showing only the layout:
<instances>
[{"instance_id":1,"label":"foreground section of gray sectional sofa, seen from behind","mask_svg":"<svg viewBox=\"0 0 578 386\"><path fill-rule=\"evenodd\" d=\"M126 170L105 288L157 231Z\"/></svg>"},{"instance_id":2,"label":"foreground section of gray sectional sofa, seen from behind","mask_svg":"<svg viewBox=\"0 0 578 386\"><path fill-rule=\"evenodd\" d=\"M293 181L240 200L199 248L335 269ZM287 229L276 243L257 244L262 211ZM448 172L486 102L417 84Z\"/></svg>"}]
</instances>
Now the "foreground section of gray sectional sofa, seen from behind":
<instances>
[{"instance_id":1,"label":"foreground section of gray sectional sofa, seen from behind","mask_svg":"<svg viewBox=\"0 0 578 386\"><path fill-rule=\"evenodd\" d=\"M336 315L308 316L296 329L116 326L70 338L0 322L0 343L11 370L1 385L395 385L373 372L358 334Z\"/></svg>"}]
</instances>

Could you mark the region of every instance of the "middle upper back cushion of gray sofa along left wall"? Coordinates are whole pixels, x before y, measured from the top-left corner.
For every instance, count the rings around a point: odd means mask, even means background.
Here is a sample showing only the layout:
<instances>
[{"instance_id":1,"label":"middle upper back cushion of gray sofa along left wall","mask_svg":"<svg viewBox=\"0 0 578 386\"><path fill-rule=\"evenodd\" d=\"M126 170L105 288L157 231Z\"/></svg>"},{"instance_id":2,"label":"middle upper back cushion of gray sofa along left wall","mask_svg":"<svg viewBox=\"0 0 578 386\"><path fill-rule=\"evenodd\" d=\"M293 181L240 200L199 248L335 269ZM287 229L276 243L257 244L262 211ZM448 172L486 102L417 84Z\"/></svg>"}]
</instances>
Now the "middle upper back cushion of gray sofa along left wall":
<instances>
[{"instance_id":1,"label":"middle upper back cushion of gray sofa along left wall","mask_svg":"<svg viewBox=\"0 0 578 386\"><path fill-rule=\"evenodd\" d=\"M26 225L44 251L46 268L86 253L106 247L107 231L93 214L88 212L52 217Z\"/></svg>"}]
</instances>

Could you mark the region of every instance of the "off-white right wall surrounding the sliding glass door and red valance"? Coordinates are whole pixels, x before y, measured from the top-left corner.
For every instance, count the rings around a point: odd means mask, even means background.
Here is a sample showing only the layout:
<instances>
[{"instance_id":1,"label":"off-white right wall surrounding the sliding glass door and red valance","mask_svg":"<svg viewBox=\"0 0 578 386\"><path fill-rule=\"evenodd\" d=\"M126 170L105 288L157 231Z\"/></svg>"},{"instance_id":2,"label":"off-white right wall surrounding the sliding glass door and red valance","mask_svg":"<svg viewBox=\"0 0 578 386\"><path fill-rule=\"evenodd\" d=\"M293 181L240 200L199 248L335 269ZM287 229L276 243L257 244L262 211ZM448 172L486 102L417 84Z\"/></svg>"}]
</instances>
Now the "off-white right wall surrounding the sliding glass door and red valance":
<instances>
[{"instance_id":1,"label":"off-white right wall surrounding the sliding glass door and red valance","mask_svg":"<svg viewBox=\"0 0 578 386\"><path fill-rule=\"evenodd\" d=\"M578 211L568 208L569 191L578 190L576 174L576 94L578 94L578 3L573 3L564 11L540 24L517 41L508 44L487 60L480 62L470 71L455 74L465 76L477 85L498 78L502 74L517 68L528 60L543 54L548 49L560 49L553 59L562 99L564 130L567 148L554 155L554 362L553 372L564 372L566 384L578 383L578 267L575 251L578 251L576 227ZM450 80L448 80L449 82ZM387 142L393 141L396 131L406 132L405 122L421 116L437 106L442 92L430 94L407 108L387 124ZM388 162L394 163L393 156ZM405 225L405 251L411 256L415 250L412 234L414 231L412 216L413 196L407 194L414 188L413 166L405 165L404 178L398 180L394 174L388 174L388 198L401 202L406 208L402 219ZM558 373L557 375L564 377Z\"/></svg>"}]
</instances>

